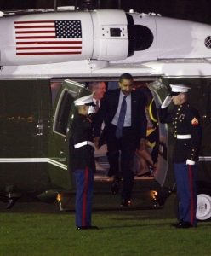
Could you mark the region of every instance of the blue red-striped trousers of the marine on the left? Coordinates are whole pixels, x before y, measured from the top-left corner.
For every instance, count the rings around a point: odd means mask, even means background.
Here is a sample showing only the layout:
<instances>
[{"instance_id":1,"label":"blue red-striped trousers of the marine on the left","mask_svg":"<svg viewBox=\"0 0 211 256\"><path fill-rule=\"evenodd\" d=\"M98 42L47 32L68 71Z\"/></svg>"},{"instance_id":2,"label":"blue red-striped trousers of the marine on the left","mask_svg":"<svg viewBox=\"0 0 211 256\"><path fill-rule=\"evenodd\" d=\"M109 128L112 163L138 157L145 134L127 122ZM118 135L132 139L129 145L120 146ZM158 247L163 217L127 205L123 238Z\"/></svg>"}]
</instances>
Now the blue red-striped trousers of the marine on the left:
<instances>
[{"instance_id":1,"label":"blue red-striped trousers of the marine on the left","mask_svg":"<svg viewBox=\"0 0 211 256\"><path fill-rule=\"evenodd\" d=\"M94 172L90 168L74 172L77 183L76 224L77 227L91 226Z\"/></svg>"}]
</instances>

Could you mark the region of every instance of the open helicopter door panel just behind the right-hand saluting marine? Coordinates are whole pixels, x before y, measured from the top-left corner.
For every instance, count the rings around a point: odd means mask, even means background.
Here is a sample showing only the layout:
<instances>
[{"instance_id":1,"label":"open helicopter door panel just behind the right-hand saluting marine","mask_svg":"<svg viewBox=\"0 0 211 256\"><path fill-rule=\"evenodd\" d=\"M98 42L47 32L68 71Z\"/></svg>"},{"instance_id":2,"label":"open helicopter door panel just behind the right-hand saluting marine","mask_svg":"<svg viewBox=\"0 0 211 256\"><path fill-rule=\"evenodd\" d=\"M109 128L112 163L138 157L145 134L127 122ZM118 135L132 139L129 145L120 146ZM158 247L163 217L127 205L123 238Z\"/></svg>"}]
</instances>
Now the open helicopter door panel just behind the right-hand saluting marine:
<instances>
[{"instance_id":1,"label":"open helicopter door panel just behind the right-hand saluting marine","mask_svg":"<svg viewBox=\"0 0 211 256\"><path fill-rule=\"evenodd\" d=\"M147 84L151 90L152 96L156 104L156 108L159 108L166 96L168 96L168 88L161 81L156 80L150 84ZM169 108L173 108L171 103ZM174 184L174 172L172 165L172 143L168 143L173 140L174 129L172 125L161 124L158 118L159 125L159 153L157 162L157 172L154 178L160 183L161 186L173 186ZM170 172L169 172L170 171Z\"/></svg>"}]
</instances>

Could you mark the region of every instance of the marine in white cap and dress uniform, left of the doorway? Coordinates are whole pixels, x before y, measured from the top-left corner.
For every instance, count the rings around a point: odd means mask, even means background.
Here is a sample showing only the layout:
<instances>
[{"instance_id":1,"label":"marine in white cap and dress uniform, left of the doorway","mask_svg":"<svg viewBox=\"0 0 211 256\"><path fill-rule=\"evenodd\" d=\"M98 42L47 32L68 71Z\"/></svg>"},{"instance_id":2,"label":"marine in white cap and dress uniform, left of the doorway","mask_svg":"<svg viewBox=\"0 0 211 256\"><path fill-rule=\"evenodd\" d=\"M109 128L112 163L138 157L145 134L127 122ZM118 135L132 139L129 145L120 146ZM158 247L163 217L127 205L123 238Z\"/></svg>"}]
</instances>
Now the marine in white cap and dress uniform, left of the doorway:
<instances>
[{"instance_id":1,"label":"marine in white cap and dress uniform, left of the doorway","mask_svg":"<svg viewBox=\"0 0 211 256\"><path fill-rule=\"evenodd\" d=\"M94 142L92 119L88 108L93 95L77 99L77 118L71 125L70 165L77 184L76 225L78 230L98 229L91 225L94 186Z\"/></svg>"}]
</instances>

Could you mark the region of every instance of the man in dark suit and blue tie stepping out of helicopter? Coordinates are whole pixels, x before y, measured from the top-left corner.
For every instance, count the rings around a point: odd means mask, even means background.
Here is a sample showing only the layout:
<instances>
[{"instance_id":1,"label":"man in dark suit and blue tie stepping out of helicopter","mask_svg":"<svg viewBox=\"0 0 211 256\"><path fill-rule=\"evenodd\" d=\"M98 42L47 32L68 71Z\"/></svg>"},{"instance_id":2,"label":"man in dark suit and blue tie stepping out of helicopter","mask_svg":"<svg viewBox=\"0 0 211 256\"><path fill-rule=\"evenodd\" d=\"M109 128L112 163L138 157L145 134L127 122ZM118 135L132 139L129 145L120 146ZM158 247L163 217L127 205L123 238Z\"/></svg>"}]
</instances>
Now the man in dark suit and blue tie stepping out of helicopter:
<instances>
[{"instance_id":1,"label":"man in dark suit and blue tie stepping out of helicopter","mask_svg":"<svg viewBox=\"0 0 211 256\"><path fill-rule=\"evenodd\" d=\"M113 176L112 193L117 194L121 176L123 192L121 206L129 207L134 185L132 161L137 148L145 148L146 117L145 96L133 90L134 79L129 73L123 73L119 79L119 89L108 90L101 100L100 108L94 120L94 145L100 147L100 138L106 138L107 158L110 164L108 176ZM126 102L123 114L123 130L117 134L119 116L122 116L122 102ZM103 134L100 134L102 122L105 121ZM119 168L119 151L121 151L121 168Z\"/></svg>"}]
</instances>

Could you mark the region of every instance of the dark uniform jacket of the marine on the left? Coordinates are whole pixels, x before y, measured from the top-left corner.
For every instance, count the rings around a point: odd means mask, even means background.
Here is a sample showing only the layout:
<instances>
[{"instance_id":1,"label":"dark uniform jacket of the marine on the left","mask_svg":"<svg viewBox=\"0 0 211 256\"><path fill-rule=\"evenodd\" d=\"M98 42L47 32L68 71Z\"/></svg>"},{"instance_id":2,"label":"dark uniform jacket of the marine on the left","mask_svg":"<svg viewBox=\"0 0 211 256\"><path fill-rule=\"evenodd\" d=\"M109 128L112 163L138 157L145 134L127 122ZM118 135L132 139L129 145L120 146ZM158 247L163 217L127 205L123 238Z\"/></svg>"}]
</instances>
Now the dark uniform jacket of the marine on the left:
<instances>
[{"instance_id":1,"label":"dark uniform jacket of the marine on the left","mask_svg":"<svg viewBox=\"0 0 211 256\"><path fill-rule=\"evenodd\" d=\"M94 163L94 147L91 145L84 145L80 148L74 148L74 145L82 142L93 143L93 126L90 119L83 114L78 114L77 118L73 120L71 125L70 138L70 166L71 171L84 169L90 167L95 168Z\"/></svg>"}]
</instances>

